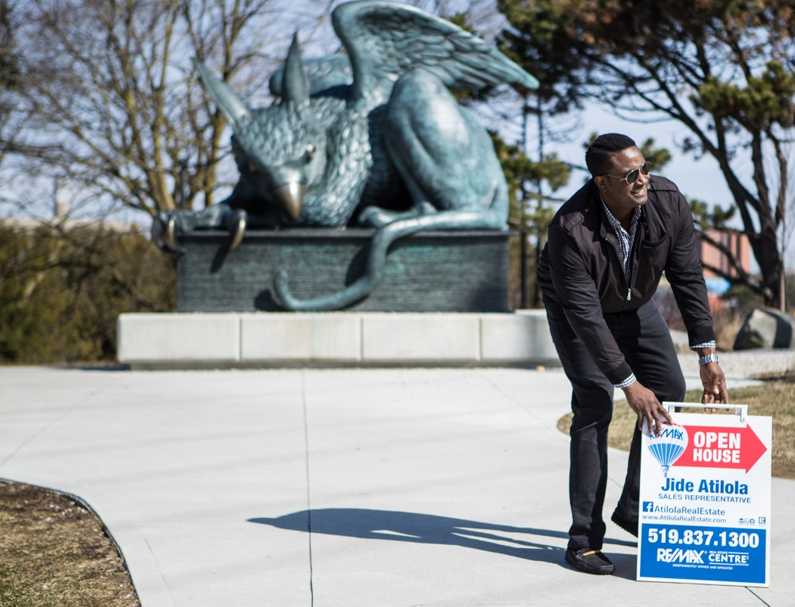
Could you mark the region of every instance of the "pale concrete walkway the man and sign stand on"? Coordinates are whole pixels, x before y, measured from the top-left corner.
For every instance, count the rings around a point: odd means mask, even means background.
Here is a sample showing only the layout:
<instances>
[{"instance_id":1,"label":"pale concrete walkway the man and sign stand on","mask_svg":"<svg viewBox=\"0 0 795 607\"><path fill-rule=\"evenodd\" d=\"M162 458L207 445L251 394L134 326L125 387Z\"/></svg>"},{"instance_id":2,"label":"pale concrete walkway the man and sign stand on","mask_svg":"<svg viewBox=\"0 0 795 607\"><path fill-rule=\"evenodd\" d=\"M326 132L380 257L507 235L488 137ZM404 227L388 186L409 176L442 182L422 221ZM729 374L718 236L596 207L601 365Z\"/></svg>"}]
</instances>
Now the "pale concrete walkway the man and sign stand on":
<instances>
[{"instance_id":1,"label":"pale concrete walkway the man and sign stand on","mask_svg":"<svg viewBox=\"0 0 795 607\"><path fill-rule=\"evenodd\" d=\"M636 582L612 523L615 575L567 566L567 411L559 369L6 367L0 475L86 500L144 607L793 605L795 481L770 588Z\"/></svg>"}]
</instances>

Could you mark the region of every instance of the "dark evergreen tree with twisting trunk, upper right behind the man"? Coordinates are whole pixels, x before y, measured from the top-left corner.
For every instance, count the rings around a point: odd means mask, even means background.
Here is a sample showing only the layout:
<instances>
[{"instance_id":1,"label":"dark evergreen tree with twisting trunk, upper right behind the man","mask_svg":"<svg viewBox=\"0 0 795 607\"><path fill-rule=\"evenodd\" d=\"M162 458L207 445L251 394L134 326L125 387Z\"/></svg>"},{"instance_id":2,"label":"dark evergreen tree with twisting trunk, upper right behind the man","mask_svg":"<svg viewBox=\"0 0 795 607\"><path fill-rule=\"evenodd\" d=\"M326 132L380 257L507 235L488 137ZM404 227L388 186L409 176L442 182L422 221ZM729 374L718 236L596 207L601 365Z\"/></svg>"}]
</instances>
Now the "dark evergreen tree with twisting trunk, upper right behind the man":
<instances>
[{"instance_id":1,"label":"dark evergreen tree with twisting trunk, upper right behind the man","mask_svg":"<svg viewBox=\"0 0 795 607\"><path fill-rule=\"evenodd\" d=\"M761 279L743 274L735 281L783 307L781 244L795 137L791 0L498 5L510 23L503 45L562 109L590 100L619 113L673 118L689 129L683 150L717 161L732 197L724 206L739 212L760 267ZM753 175L744 179L748 158ZM738 267L733 256L730 262Z\"/></svg>"}]
</instances>

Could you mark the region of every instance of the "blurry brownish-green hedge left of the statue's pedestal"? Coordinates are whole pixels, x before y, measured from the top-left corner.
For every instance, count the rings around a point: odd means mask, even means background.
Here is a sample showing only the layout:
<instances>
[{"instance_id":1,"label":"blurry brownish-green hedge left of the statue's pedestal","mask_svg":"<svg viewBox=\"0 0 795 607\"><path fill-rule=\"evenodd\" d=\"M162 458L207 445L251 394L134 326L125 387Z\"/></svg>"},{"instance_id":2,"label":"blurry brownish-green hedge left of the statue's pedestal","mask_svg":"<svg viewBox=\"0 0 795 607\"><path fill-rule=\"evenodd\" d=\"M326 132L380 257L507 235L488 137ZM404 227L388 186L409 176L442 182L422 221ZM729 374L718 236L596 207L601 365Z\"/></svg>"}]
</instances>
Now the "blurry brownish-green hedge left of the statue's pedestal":
<instances>
[{"instance_id":1,"label":"blurry brownish-green hedge left of the statue's pedestal","mask_svg":"<svg viewBox=\"0 0 795 607\"><path fill-rule=\"evenodd\" d=\"M0 363L113 361L122 312L175 305L174 258L138 231L0 222Z\"/></svg>"}]
</instances>

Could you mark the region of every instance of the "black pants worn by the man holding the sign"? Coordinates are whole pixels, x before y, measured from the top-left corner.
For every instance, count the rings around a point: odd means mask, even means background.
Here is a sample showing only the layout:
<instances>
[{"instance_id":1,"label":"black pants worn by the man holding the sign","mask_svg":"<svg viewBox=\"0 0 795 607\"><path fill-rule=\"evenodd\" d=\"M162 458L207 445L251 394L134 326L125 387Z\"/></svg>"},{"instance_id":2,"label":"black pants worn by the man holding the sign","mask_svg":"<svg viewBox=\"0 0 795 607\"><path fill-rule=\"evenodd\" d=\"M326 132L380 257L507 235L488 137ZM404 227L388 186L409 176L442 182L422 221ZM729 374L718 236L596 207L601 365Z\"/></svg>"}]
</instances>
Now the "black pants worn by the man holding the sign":
<instances>
[{"instance_id":1,"label":"black pants worn by the man holding the sign","mask_svg":"<svg viewBox=\"0 0 795 607\"><path fill-rule=\"evenodd\" d=\"M601 549L605 536L602 507L607 486L607 429L613 417L613 385L599 371L563 310L547 305L552 341L572 387L569 547ZM605 321L638 381L660 402L681 401L685 379L671 333L654 302L633 312L605 314ZM638 520L641 434L632 437L624 489L616 513Z\"/></svg>"}]
</instances>

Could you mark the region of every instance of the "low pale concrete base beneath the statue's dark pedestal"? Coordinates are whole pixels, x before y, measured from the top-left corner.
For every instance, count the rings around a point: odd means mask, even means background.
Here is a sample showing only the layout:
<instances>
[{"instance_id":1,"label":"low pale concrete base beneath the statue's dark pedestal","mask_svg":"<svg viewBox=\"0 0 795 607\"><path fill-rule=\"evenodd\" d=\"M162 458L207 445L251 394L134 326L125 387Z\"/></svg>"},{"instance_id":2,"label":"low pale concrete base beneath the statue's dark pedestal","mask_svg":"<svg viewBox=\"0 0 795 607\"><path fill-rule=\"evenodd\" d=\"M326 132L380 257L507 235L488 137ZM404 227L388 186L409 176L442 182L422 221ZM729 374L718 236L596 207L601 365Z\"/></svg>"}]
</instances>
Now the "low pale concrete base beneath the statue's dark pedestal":
<instances>
[{"instance_id":1,"label":"low pale concrete base beneath the statue's dark pedestal","mask_svg":"<svg viewBox=\"0 0 795 607\"><path fill-rule=\"evenodd\" d=\"M122 314L136 368L558 364L543 310Z\"/></svg>"}]
</instances>

